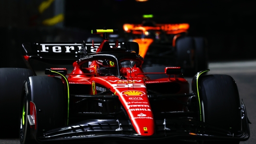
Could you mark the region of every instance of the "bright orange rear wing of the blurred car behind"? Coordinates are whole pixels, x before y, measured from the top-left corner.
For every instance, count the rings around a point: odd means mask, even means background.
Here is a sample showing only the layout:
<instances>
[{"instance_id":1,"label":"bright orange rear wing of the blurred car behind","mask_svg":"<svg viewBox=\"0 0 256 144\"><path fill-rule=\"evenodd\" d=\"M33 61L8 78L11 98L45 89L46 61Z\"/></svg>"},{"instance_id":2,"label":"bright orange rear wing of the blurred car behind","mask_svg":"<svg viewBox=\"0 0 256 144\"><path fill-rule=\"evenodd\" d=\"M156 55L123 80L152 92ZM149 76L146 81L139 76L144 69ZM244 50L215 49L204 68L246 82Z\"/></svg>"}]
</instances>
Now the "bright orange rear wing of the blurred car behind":
<instances>
[{"instance_id":1,"label":"bright orange rear wing of the blurred car behind","mask_svg":"<svg viewBox=\"0 0 256 144\"><path fill-rule=\"evenodd\" d=\"M132 32L135 30L141 30L143 32L147 30L163 30L167 34L178 34L182 32L187 32L189 29L189 24L156 24L155 27L143 26L142 24L124 24L123 29L126 32Z\"/></svg>"}]
</instances>

